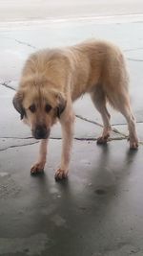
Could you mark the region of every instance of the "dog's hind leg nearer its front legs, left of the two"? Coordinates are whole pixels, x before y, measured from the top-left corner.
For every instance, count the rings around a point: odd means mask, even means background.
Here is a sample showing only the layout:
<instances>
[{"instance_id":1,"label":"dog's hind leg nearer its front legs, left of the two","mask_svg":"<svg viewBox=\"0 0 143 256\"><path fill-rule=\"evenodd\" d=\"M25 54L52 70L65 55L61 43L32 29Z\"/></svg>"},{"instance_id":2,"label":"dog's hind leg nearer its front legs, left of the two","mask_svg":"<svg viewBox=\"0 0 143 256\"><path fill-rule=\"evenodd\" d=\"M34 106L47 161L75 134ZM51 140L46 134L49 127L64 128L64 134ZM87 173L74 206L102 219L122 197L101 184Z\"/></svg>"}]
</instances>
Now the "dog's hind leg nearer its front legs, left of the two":
<instances>
[{"instance_id":1,"label":"dog's hind leg nearer its front legs, left of the two","mask_svg":"<svg viewBox=\"0 0 143 256\"><path fill-rule=\"evenodd\" d=\"M101 85L102 86L102 85ZM97 85L94 91L91 93L93 105L101 114L103 120L103 132L102 135L97 139L97 144L106 144L111 134L111 115L106 107L106 96L102 90L102 87Z\"/></svg>"}]
</instances>

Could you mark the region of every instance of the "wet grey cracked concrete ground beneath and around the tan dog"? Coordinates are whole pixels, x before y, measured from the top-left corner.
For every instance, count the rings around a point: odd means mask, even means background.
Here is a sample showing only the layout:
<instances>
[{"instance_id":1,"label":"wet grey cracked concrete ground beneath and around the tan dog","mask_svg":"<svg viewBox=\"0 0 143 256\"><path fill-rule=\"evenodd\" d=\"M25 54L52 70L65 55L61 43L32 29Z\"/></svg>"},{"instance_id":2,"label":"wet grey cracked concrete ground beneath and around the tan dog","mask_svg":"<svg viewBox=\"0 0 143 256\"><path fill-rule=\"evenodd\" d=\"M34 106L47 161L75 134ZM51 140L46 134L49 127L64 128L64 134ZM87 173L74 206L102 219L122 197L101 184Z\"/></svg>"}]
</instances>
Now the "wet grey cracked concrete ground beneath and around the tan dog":
<instances>
[{"instance_id":1,"label":"wet grey cracked concrete ground beneath and around the tan dog","mask_svg":"<svg viewBox=\"0 0 143 256\"><path fill-rule=\"evenodd\" d=\"M70 21L0 29L0 256L143 255L143 23ZM74 105L69 179L55 182L61 151L53 128L45 174L30 175L38 142L19 121L11 100L20 70L36 49L89 37L109 39L124 51L140 141L129 151L127 125L112 109L112 139L96 145L101 118L88 96Z\"/></svg>"}]
</instances>

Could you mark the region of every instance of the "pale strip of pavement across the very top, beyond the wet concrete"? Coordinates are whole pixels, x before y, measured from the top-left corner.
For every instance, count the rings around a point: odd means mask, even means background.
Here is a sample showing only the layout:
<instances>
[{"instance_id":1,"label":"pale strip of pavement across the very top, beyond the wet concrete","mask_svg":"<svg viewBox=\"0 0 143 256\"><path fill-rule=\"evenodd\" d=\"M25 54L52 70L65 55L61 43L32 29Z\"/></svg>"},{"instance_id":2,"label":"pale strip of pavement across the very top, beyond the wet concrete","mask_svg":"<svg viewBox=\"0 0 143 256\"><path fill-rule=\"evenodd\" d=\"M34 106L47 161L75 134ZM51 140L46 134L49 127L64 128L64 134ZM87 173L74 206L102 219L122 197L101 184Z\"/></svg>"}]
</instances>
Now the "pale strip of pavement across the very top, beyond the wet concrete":
<instances>
[{"instance_id":1,"label":"pale strip of pavement across the very top, beyond the wet concrete","mask_svg":"<svg viewBox=\"0 0 143 256\"><path fill-rule=\"evenodd\" d=\"M140 14L142 0L0 0L0 21Z\"/></svg>"}]
</instances>

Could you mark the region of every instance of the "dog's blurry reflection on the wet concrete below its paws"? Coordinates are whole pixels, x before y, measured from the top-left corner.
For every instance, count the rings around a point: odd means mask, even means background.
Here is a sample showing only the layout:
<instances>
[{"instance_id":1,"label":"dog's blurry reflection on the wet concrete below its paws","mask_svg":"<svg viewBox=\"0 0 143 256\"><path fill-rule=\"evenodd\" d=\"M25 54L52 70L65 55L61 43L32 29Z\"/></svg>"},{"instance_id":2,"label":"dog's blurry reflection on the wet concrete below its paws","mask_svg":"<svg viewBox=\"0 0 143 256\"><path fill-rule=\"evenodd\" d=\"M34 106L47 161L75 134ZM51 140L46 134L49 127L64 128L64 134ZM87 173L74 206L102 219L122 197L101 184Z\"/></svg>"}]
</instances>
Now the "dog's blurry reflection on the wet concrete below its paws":
<instances>
[{"instance_id":1,"label":"dog's blurry reflection on the wet concrete below its paws","mask_svg":"<svg viewBox=\"0 0 143 256\"><path fill-rule=\"evenodd\" d=\"M114 156L116 156L115 159ZM100 147L95 167L87 170L89 172L87 182L91 185L85 186L83 192L78 191L77 180L74 180L72 175L69 179L60 182L49 180L49 175L38 177L39 198L43 196L50 198L50 200L44 200L47 203L44 209L46 213L44 222L52 227L52 239L56 244L56 250L60 249L59 244L71 246L69 234L72 235L72 247L76 250L83 248L85 240L86 243L91 243L91 232L94 239L98 238L98 232L104 232L104 221L109 220L108 216L111 215L112 208L114 209L117 203L116 195L120 195L122 187L126 187L127 179L133 170L131 166L135 156L136 151L124 150L118 158L117 152L112 152L110 145ZM53 198L51 187L57 190L55 196L58 194L59 198ZM43 223L42 217L40 220ZM62 236L58 237L58 243L56 243L59 228L66 232L62 232ZM63 255L66 255L67 246L64 245L62 248Z\"/></svg>"}]
</instances>

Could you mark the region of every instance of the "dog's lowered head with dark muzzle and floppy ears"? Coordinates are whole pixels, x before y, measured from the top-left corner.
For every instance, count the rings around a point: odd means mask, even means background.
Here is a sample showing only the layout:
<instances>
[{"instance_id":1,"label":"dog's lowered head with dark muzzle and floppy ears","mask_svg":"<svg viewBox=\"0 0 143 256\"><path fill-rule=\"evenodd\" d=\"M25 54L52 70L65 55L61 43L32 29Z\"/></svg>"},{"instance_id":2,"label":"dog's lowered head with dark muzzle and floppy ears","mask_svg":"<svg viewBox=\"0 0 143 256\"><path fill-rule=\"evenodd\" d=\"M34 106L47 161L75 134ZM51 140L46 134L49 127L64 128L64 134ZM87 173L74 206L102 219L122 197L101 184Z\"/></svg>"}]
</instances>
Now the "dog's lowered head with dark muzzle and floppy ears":
<instances>
[{"instance_id":1,"label":"dog's lowered head with dark muzzle and floppy ears","mask_svg":"<svg viewBox=\"0 0 143 256\"><path fill-rule=\"evenodd\" d=\"M51 81L30 78L22 81L13 105L36 139L46 139L51 126L66 107L65 96Z\"/></svg>"}]
</instances>

